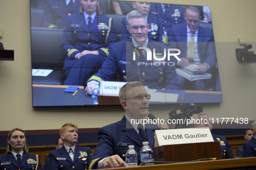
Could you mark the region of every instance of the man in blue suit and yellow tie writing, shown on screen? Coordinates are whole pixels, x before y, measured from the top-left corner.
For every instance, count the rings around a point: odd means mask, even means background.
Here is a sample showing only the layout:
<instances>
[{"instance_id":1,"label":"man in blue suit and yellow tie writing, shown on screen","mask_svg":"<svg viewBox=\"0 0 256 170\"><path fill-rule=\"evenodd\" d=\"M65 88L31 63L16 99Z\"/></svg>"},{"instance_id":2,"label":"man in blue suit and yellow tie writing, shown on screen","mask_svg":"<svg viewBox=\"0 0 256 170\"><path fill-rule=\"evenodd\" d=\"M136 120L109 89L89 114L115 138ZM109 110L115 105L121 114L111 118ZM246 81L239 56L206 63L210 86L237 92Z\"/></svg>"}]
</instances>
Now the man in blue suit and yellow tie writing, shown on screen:
<instances>
[{"instance_id":1,"label":"man in blue suit and yellow tie writing, shown on screen","mask_svg":"<svg viewBox=\"0 0 256 170\"><path fill-rule=\"evenodd\" d=\"M177 62L180 67L186 67L189 63L198 64L199 72L216 72L216 52L214 46L213 32L199 25L200 11L196 6L188 6L185 10L185 23L172 25L168 30L169 46L181 50L181 61ZM177 66L176 65L176 66ZM212 83L211 79L188 81L178 76L181 89L205 90Z\"/></svg>"}]
</instances>

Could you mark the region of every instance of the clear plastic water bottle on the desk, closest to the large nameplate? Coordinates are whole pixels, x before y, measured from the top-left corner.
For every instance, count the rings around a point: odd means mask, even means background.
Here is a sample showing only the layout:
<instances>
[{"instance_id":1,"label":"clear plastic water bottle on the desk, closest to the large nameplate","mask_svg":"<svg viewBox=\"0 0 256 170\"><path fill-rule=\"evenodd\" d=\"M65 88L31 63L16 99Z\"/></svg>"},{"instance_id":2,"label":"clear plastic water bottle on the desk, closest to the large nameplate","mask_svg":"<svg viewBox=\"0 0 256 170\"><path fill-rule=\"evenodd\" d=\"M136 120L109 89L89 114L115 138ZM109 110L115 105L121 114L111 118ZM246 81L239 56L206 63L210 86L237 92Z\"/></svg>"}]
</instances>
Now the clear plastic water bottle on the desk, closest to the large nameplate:
<instances>
[{"instance_id":1,"label":"clear plastic water bottle on the desk, closest to the large nameplate","mask_svg":"<svg viewBox=\"0 0 256 170\"><path fill-rule=\"evenodd\" d=\"M143 164L145 162L154 161L153 150L152 150L152 148L150 148L149 142L143 142L143 147L141 148L139 153L140 153L141 164ZM147 163L147 164L143 164L143 165L153 165L153 164L154 163Z\"/></svg>"}]
</instances>

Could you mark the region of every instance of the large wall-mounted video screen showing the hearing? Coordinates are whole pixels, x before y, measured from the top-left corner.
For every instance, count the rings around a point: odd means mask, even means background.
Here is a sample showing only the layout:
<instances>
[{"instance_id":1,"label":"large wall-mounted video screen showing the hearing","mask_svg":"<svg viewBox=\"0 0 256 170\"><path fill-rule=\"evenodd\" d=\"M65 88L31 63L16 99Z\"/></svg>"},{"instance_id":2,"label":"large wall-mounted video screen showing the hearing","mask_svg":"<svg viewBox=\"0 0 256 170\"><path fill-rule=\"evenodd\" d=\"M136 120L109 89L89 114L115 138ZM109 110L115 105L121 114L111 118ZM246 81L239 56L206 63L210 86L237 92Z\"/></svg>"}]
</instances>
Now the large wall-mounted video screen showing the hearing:
<instances>
[{"instance_id":1,"label":"large wall-mounted video screen showing the hearing","mask_svg":"<svg viewBox=\"0 0 256 170\"><path fill-rule=\"evenodd\" d=\"M210 6L30 0L30 10L33 107L118 105L130 81L150 104L222 102Z\"/></svg>"}]
</instances>

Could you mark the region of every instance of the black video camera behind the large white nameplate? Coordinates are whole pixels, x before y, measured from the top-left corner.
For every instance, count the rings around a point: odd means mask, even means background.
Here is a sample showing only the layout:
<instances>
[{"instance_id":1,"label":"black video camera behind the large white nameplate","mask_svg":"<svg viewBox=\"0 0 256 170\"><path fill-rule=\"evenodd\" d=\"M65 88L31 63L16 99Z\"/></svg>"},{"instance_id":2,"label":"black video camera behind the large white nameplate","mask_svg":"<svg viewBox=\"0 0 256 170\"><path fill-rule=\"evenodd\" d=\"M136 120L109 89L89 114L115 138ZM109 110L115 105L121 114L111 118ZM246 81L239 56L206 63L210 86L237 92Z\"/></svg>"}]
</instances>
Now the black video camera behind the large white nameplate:
<instances>
[{"instance_id":1,"label":"black video camera behind the large white nameplate","mask_svg":"<svg viewBox=\"0 0 256 170\"><path fill-rule=\"evenodd\" d=\"M171 110L169 112L169 119L172 122L176 122L175 129L187 128L186 119L190 119L193 114L198 114L203 112L203 107L197 106L193 103L191 104L180 104L178 109ZM181 121L183 120L183 121Z\"/></svg>"}]
</instances>

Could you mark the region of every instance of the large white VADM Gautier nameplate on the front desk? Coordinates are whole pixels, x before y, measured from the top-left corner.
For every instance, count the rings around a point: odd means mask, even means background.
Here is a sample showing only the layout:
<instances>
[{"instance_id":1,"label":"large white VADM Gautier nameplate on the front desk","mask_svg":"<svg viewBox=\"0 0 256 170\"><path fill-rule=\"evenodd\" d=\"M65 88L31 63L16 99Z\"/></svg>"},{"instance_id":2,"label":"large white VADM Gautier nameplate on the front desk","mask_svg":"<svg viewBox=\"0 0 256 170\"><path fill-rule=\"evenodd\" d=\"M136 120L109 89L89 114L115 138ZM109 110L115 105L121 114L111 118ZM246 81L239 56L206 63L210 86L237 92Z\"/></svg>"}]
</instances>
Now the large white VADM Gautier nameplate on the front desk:
<instances>
[{"instance_id":1,"label":"large white VADM Gautier nameplate on the front desk","mask_svg":"<svg viewBox=\"0 0 256 170\"><path fill-rule=\"evenodd\" d=\"M209 128L156 130L155 147L201 142L214 142Z\"/></svg>"}]
</instances>

